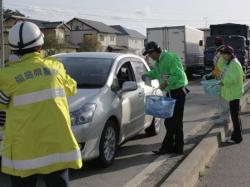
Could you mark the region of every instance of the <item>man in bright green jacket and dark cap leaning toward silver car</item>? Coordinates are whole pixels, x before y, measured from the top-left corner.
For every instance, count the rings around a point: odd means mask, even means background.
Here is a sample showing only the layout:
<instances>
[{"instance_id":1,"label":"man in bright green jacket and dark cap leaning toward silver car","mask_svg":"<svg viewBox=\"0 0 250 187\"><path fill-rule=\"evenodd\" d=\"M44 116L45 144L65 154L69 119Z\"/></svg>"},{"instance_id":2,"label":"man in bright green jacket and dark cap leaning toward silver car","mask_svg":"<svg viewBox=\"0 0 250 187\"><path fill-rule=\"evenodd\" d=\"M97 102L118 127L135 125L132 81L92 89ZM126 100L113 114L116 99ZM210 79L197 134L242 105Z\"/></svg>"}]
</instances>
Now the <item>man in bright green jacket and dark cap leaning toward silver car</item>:
<instances>
[{"instance_id":1,"label":"man in bright green jacket and dark cap leaning toward silver car","mask_svg":"<svg viewBox=\"0 0 250 187\"><path fill-rule=\"evenodd\" d=\"M159 88L167 93L167 96L176 99L175 109L172 118L165 119L167 129L166 136L162 142L161 148L153 151L155 154L182 154L183 141L183 113L186 93L188 90L187 76L183 65L177 54L162 50L157 43L151 41L146 44L143 55L148 55L155 61L153 69L143 75L157 79L160 83Z\"/></svg>"}]
</instances>

